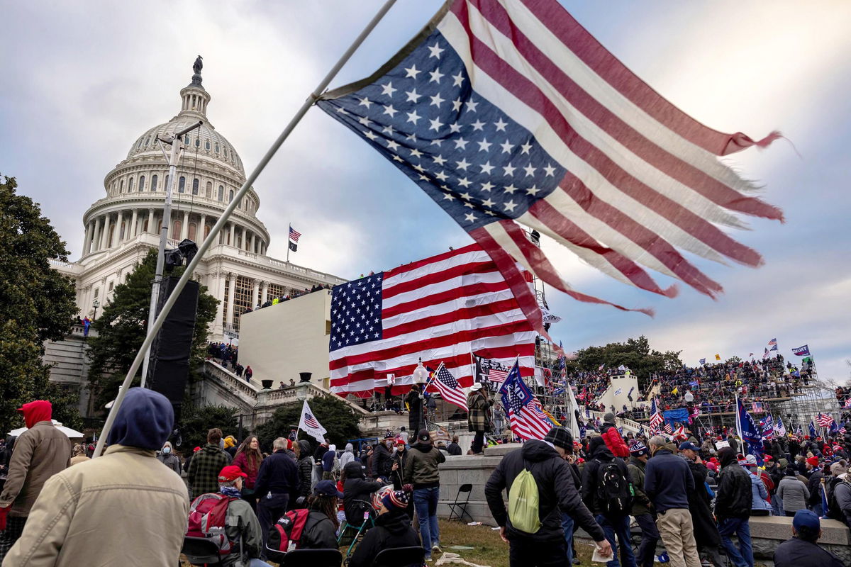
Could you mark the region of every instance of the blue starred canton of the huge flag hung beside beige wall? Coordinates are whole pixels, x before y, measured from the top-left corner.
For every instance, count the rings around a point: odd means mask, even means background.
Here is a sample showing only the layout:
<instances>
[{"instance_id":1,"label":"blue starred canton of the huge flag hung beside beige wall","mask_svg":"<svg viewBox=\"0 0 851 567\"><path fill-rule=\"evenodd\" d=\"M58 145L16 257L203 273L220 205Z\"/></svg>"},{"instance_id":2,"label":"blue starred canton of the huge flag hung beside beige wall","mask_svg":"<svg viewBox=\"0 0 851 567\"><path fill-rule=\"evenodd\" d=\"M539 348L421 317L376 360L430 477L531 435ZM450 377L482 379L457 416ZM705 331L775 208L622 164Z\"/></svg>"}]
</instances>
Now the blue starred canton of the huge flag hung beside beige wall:
<instances>
[{"instance_id":1,"label":"blue starred canton of the huge flag hung beside beige wall","mask_svg":"<svg viewBox=\"0 0 851 567\"><path fill-rule=\"evenodd\" d=\"M381 282L384 273L334 286L330 349L381 338Z\"/></svg>"}]
</instances>

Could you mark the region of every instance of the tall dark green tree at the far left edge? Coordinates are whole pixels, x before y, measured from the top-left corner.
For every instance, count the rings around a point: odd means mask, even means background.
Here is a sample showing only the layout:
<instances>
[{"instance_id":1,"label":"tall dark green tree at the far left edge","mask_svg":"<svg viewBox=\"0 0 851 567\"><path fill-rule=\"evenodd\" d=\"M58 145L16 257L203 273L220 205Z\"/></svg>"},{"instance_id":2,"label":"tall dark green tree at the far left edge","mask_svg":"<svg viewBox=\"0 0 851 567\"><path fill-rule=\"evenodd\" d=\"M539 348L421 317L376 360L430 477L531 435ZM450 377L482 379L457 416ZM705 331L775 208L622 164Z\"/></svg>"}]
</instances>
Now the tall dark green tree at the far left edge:
<instances>
[{"instance_id":1,"label":"tall dark green tree at the far left edge","mask_svg":"<svg viewBox=\"0 0 851 567\"><path fill-rule=\"evenodd\" d=\"M74 285L50 268L68 261L65 242L14 178L0 182L0 431L23 425L15 408L50 400L54 419L78 428L77 395L49 381L45 340L60 340L77 314Z\"/></svg>"}]
</instances>

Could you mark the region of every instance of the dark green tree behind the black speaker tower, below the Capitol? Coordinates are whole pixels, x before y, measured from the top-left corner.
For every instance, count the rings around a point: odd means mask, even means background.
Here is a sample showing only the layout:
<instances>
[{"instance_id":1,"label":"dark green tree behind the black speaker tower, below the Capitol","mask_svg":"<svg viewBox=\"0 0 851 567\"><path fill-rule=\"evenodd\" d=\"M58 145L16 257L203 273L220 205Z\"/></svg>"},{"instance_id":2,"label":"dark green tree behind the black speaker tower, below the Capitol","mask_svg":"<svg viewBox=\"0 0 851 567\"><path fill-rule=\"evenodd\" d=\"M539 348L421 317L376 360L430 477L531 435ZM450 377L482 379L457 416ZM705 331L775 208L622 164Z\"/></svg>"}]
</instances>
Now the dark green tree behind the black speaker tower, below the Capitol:
<instances>
[{"instance_id":1,"label":"dark green tree behind the black speaker tower, below the Capitol","mask_svg":"<svg viewBox=\"0 0 851 567\"><path fill-rule=\"evenodd\" d=\"M127 276L127 280L115 286L112 298L103 313L94 321L97 337L89 337L89 381L94 387L95 407L112 400L123 382L147 332L148 309L151 306L151 283L157 268L157 251L148 255ZM180 276L183 268L174 269L171 275ZM198 296L197 318L192 337L190 368L195 369L203 360L207 348L209 325L215 318L219 300L201 286ZM139 385L141 370L133 385Z\"/></svg>"}]
</instances>

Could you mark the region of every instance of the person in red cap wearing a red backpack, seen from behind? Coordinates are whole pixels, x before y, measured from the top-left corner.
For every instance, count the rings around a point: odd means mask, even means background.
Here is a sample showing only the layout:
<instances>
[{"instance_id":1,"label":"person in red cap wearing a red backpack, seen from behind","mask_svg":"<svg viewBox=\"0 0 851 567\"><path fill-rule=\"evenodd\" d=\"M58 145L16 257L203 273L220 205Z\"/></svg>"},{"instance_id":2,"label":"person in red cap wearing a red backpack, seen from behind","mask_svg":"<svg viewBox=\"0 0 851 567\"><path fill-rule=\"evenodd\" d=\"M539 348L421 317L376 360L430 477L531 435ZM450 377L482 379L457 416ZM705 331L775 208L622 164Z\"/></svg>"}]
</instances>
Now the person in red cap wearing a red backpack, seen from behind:
<instances>
[{"instance_id":1,"label":"person in red cap wearing a red backpack, seen from behind","mask_svg":"<svg viewBox=\"0 0 851 567\"><path fill-rule=\"evenodd\" d=\"M260 559L263 537L260 521L251 505L242 498L248 475L234 465L222 468L219 491L198 496L189 508L187 537L206 538L219 547L217 555L186 554L192 564L219 564L223 567L271 567Z\"/></svg>"}]
</instances>

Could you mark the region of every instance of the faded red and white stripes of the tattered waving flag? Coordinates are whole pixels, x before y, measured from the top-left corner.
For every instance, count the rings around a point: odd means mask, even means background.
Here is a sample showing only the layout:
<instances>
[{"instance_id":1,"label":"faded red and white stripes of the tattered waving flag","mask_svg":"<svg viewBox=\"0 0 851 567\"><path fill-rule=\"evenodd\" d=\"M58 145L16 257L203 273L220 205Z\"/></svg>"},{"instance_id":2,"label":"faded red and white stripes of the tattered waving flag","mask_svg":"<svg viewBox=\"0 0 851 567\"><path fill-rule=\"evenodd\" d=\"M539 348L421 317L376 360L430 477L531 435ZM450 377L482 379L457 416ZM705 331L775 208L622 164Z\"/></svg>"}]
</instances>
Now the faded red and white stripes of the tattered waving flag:
<instances>
[{"instance_id":1,"label":"faded red and white stripes of the tattered waving flag","mask_svg":"<svg viewBox=\"0 0 851 567\"><path fill-rule=\"evenodd\" d=\"M681 251L762 264L758 252L719 226L741 228L736 213L780 220L782 213L750 196L753 184L717 156L768 145L777 134L755 142L706 128L632 74L556 0L456 0L437 29L465 61L477 94L534 132L568 170L558 189L517 223L620 281L668 297L676 288L659 286L644 268L712 297L722 291ZM492 256L507 251L580 301L608 303L574 292L515 229L503 220L471 235ZM511 281L514 263L494 261ZM512 291L540 328L525 297L531 294L513 285Z\"/></svg>"}]
</instances>

